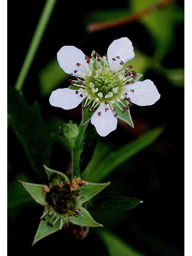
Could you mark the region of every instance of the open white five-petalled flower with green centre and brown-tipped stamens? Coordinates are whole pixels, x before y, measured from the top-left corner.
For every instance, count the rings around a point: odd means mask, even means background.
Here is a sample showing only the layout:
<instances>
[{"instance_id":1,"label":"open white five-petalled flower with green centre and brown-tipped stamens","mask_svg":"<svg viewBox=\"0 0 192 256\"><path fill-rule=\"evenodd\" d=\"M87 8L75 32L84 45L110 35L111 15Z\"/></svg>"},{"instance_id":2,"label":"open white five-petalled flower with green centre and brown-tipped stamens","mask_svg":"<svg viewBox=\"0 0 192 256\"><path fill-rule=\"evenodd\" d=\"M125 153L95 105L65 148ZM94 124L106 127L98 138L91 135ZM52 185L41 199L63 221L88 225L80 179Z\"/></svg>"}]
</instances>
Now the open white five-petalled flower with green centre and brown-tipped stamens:
<instances>
[{"instance_id":1,"label":"open white five-petalled flower with green centre and brown-tipped stamens","mask_svg":"<svg viewBox=\"0 0 192 256\"><path fill-rule=\"evenodd\" d=\"M70 74L70 88L52 92L50 104L66 110L76 108L83 102L83 109L94 114L91 123L100 136L106 136L116 129L117 109L126 115L132 105L154 104L160 94L150 80L137 82L138 77L131 65L124 63L134 57L132 42L126 38L114 40L106 56L92 52L85 54L74 46L63 46L57 54L58 63L64 72ZM74 76L74 78L72 78ZM120 118L121 119L121 118Z\"/></svg>"}]
</instances>

